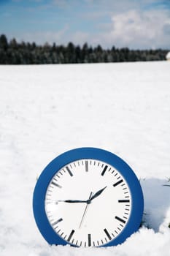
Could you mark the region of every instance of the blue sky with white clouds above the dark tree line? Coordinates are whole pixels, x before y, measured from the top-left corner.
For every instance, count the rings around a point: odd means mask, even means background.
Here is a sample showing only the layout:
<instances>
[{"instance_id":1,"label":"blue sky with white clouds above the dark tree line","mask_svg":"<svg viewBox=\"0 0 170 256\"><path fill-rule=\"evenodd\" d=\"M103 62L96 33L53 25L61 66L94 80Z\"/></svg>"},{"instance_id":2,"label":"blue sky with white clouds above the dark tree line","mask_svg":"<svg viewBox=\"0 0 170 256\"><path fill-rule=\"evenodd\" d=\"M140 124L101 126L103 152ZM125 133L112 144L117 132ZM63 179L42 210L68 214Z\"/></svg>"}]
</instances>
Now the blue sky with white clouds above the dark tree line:
<instances>
[{"instance_id":1,"label":"blue sky with white clouds above the dark tree line","mask_svg":"<svg viewBox=\"0 0 170 256\"><path fill-rule=\"evenodd\" d=\"M37 44L170 48L170 0L0 0L0 34Z\"/></svg>"}]
</instances>

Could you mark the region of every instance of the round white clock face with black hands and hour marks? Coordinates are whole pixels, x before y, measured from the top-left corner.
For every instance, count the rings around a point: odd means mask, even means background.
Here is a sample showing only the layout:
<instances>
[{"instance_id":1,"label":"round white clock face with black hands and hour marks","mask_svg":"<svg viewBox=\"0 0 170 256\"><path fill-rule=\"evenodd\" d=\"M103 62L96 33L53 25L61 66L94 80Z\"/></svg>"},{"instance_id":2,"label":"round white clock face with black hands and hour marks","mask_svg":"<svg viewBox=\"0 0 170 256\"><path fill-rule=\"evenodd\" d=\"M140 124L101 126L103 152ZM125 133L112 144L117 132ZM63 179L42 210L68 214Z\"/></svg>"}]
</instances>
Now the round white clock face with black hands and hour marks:
<instances>
[{"instance_id":1,"label":"round white clock face with black hands and hour marks","mask_svg":"<svg viewBox=\"0 0 170 256\"><path fill-rule=\"evenodd\" d=\"M131 215L131 192L118 170L80 159L53 176L45 212L55 233L76 246L102 246L115 239Z\"/></svg>"}]
</instances>

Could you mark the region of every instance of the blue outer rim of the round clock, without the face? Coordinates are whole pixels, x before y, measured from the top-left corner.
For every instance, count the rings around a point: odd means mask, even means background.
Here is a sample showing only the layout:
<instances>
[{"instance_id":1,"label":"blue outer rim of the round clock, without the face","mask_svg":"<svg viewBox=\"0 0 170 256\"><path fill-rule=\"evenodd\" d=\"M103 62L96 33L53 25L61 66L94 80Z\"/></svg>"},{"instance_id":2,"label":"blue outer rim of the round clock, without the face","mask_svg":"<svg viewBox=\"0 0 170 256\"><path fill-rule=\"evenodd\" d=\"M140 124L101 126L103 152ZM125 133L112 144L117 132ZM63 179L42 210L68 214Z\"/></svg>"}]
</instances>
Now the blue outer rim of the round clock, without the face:
<instances>
[{"instance_id":1,"label":"blue outer rim of the round clock, without the face","mask_svg":"<svg viewBox=\"0 0 170 256\"><path fill-rule=\"evenodd\" d=\"M128 183L128 187L131 190L132 200L132 210L128 223L125 225L119 236L102 246L115 246L117 244L122 244L126 238L131 236L139 229L139 225L142 222L142 215L144 211L142 187L140 186L139 180L134 171L123 159L101 148L74 148L70 151L66 151L58 157L55 157L55 159L53 159L42 171L38 181L36 182L33 195L34 219L37 227L39 228L39 232L42 234L48 244L70 244L69 242L63 240L61 236L58 236L58 234L53 230L53 227L51 227L45 214L45 194L48 184L55 173L61 170L63 166L79 159L96 159L106 162L107 164L115 167Z\"/></svg>"}]
</instances>

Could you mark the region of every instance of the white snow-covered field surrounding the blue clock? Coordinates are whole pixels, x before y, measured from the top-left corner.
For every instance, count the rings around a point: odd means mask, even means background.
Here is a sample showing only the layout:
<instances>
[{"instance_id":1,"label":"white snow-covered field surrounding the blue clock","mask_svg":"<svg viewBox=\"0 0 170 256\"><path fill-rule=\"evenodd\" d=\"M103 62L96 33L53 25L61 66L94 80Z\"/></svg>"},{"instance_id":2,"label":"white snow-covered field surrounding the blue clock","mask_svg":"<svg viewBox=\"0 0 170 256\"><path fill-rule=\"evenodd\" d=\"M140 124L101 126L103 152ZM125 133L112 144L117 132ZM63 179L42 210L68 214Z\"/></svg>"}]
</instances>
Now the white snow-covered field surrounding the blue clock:
<instances>
[{"instance_id":1,"label":"white snow-covered field surrounding the blue clock","mask_svg":"<svg viewBox=\"0 0 170 256\"><path fill-rule=\"evenodd\" d=\"M0 66L0 255L170 254L170 62ZM32 212L58 154L112 151L141 179L144 226L108 248L49 246ZM149 228L148 228L149 227Z\"/></svg>"}]
</instances>

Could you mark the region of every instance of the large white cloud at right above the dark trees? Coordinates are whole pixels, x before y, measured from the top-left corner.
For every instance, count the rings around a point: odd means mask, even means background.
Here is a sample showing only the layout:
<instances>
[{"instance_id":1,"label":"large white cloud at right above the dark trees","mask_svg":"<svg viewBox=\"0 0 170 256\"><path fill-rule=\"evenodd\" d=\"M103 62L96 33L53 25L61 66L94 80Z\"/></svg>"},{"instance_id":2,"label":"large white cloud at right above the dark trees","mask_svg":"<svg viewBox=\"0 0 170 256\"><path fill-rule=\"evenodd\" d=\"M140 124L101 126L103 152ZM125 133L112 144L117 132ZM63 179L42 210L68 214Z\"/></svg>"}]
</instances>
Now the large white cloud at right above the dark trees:
<instances>
[{"instance_id":1,"label":"large white cloud at right above the dark trees","mask_svg":"<svg viewBox=\"0 0 170 256\"><path fill-rule=\"evenodd\" d=\"M93 43L129 48L169 48L170 18L166 10L129 10L112 15L112 28Z\"/></svg>"}]
</instances>

